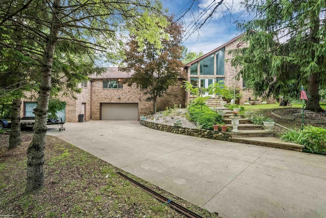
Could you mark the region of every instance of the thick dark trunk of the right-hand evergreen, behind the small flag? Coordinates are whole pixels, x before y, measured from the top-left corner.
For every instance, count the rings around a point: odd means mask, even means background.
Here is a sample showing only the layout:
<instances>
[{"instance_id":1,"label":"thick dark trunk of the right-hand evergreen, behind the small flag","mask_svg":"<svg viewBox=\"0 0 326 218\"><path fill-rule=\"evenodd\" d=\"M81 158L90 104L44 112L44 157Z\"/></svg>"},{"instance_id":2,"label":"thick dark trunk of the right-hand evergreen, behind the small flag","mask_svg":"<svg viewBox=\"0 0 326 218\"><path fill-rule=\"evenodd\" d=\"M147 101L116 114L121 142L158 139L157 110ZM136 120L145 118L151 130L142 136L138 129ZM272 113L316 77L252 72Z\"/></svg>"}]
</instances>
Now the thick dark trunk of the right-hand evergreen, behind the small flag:
<instances>
[{"instance_id":1,"label":"thick dark trunk of the right-hand evergreen, behind the small flag","mask_svg":"<svg viewBox=\"0 0 326 218\"><path fill-rule=\"evenodd\" d=\"M314 112L324 112L324 110L319 105L319 74L313 73L308 76L308 101L306 105L306 110Z\"/></svg>"}]
</instances>

